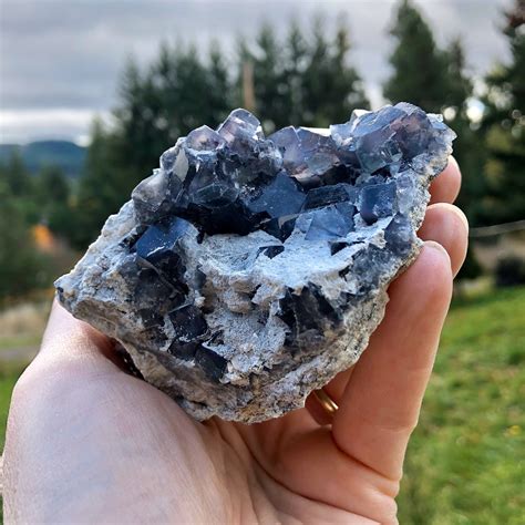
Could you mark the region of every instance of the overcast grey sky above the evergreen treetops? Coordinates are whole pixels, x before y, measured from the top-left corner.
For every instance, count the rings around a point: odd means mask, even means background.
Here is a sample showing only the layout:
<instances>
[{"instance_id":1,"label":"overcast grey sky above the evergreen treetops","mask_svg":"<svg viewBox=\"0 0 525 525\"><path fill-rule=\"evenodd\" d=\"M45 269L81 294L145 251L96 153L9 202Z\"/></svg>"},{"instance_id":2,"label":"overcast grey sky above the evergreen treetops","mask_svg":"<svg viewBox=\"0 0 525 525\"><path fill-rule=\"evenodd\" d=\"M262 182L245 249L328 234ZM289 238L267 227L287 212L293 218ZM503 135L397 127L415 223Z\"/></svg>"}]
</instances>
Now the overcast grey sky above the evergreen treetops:
<instances>
[{"instance_id":1,"label":"overcast grey sky above the evergreen treetops","mask_svg":"<svg viewBox=\"0 0 525 525\"><path fill-rule=\"evenodd\" d=\"M394 0L0 0L0 142L70 138L82 142L95 113L115 104L119 74L133 54L155 55L162 39L210 39L231 51L262 21L279 33L290 19L308 24L312 13L330 22L347 13L352 60L374 105L389 74ZM439 43L462 37L472 72L482 74L507 50L498 33L511 0L419 0ZM328 23L327 27L332 25Z\"/></svg>"}]
</instances>

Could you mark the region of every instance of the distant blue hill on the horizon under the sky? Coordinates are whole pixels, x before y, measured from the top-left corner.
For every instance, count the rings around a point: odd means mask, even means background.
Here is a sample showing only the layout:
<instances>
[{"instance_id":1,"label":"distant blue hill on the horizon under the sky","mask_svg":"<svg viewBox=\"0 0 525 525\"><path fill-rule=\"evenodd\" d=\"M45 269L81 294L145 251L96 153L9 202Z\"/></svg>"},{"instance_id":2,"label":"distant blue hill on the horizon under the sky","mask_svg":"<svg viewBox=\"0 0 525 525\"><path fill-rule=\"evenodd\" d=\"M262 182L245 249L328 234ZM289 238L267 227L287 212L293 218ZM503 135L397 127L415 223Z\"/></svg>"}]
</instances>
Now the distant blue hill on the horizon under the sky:
<instances>
[{"instance_id":1,"label":"distant blue hill on the horizon under the sky","mask_svg":"<svg viewBox=\"0 0 525 525\"><path fill-rule=\"evenodd\" d=\"M0 144L0 163L6 163L18 151L31 173L43 166L61 167L70 177L78 177L84 166L85 147L69 141L38 141L29 144Z\"/></svg>"}]
</instances>

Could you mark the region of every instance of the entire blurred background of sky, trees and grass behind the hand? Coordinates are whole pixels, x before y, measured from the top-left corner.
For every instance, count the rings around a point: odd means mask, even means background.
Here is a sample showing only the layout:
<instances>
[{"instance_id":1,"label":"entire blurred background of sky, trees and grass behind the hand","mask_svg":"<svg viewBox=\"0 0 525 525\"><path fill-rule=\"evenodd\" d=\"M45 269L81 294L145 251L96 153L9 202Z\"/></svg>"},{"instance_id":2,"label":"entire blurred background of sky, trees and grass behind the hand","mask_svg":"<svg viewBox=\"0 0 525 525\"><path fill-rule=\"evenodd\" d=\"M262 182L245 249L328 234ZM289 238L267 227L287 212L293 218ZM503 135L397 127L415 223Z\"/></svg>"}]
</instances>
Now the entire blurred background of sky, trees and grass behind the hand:
<instances>
[{"instance_id":1,"label":"entire blurred background of sky, trees and grass behind the hand","mask_svg":"<svg viewBox=\"0 0 525 525\"><path fill-rule=\"evenodd\" d=\"M53 279L178 136L409 101L459 134L472 230L400 521L525 523L524 0L1 0L0 34L0 445Z\"/></svg>"}]
</instances>

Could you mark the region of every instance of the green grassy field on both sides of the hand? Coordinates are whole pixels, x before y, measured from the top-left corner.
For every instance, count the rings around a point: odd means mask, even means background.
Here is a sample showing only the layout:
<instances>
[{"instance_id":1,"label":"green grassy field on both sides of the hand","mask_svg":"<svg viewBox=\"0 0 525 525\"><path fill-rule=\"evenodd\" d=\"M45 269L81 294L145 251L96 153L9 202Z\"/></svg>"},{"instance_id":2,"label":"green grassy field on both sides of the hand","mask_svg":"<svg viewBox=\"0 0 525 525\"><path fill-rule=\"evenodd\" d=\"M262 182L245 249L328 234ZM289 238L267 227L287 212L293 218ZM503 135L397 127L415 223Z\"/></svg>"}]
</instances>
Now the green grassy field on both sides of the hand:
<instances>
[{"instance_id":1,"label":"green grassy field on both sides of the hand","mask_svg":"<svg viewBox=\"0 0 525 525\"><path fill-rule=\"evenodd\" d=\"M19 337L19 344L37 341L45 317L42 307L28 311L38 329ZM455 301L409 447L400 523L525 523L524 319L525 288ZM0 338L1 446L10 393L22 370L12 360L2 364L7 347L8 338Z\"/></svg>"}]
</instances>

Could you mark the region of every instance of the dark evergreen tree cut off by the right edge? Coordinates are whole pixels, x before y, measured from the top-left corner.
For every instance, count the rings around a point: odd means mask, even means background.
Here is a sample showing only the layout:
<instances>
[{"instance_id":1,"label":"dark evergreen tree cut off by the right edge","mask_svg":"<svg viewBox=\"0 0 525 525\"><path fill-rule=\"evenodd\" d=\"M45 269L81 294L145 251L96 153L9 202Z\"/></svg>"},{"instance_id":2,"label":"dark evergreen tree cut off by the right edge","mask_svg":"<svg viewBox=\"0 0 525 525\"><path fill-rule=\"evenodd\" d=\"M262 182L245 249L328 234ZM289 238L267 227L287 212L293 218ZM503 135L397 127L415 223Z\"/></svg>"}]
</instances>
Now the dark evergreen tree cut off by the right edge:
<instances>
[{"instance_id":1,"label":"dark evergreen tree cut off by the right edge","mask_svg":"<svg viewBox=\"0 0 525 525\"><path fill-rule=\"evenodd\" d=\"M490 158L488 194L484 222L505 223L525 218L525 1L516 0L506 13L503 32L511 61L500 64L486 79L484 127Z\"/></svg>"}]
</instances>

